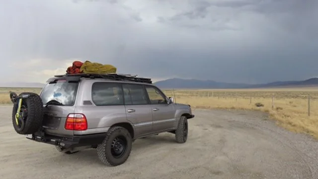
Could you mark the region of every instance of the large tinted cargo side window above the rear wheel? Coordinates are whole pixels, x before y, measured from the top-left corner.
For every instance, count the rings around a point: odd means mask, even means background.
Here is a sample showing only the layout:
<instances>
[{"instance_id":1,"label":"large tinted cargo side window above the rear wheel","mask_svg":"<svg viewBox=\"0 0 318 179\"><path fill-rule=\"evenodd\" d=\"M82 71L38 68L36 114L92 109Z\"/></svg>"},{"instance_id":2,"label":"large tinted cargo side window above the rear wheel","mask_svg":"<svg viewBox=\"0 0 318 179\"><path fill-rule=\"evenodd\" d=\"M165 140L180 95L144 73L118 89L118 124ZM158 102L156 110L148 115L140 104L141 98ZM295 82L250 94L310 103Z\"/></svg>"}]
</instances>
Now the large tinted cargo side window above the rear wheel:
<instances>
[{"instance_id":1,"label":"large tinted cargo side window above the rear wheel","mask_svg":"<svg viewBox=\"0 0 318 179\"><path fill-rule=\"evenodd\" d=\"M92 100L95 105L123 105L123 92L118 83L95 82L92 85Z\"/></svg>"}]
</instances>

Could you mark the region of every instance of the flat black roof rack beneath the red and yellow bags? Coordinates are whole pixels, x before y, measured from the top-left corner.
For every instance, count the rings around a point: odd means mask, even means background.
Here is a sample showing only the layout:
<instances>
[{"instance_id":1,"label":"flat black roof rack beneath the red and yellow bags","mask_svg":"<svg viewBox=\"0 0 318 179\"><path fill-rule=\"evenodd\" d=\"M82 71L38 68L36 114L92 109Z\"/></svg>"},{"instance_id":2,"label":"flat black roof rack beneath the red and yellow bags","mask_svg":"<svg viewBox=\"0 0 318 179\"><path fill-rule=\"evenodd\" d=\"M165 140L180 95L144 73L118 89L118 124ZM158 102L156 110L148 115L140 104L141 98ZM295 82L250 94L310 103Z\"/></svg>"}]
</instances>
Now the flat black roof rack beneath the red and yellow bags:
<instances>
[{"instance_id":1,"label":"flat black roof rack beneath the red and yellow bags","mask_svg":"<svg viewBox=\"0 0 318 179\"><path fill-rule=\"evenodd\" d=\"M148 83L152 84L152 80L150 78L140 78L137 75L129 75L129 74L64 74L64 75L55 75L54 77L83 77L83 78L101 78L101 79L109 79L109 80L117 80L117 81L132 81L132 82L140 82L140 83Z\"/></svg>"}]
</instances>

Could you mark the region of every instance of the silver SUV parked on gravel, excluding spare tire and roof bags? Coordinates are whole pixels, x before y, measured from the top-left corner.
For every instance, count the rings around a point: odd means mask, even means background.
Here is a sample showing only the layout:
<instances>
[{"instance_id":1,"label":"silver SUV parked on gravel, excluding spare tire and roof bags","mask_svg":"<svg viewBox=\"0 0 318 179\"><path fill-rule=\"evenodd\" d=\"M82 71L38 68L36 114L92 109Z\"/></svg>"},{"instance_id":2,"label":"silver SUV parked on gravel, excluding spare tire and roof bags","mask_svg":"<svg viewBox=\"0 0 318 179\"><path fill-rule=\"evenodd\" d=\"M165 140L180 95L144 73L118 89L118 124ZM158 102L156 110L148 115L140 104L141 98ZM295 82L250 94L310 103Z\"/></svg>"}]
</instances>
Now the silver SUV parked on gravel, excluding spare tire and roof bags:
<instances>
[{"instance_id":1,"label":"silver SUV parked on gravel, excluding spare tire and roof bags","mask_svg":"<svg viewBox=\"0 0 318 179\"><path fill-rule=\"evenodd\" d=\"M136 139L170 132L186 142L194 117L190 105L176 104L151 79L124 74L55 76L40 97L42 125L25 136L66 154L95 148L108 166L123 164Z\"/></svg>"}]
</instances>

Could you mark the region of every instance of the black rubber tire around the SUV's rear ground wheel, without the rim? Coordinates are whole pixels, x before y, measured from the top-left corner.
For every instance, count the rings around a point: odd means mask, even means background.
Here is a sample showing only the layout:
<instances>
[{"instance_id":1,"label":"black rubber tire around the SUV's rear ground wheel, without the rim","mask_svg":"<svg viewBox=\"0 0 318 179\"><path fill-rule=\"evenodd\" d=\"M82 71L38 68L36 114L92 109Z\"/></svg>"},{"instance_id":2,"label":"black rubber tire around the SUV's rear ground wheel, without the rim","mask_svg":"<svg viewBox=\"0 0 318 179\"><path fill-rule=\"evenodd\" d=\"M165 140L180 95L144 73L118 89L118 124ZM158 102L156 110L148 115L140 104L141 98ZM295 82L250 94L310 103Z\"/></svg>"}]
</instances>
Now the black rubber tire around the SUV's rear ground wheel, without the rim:
<instances>
[{"instance_id":1,"label":"black rubber tire around the SUV's rear ground wheel, without the rim","mask_svg":"<svg viewBox=\"0 0 318 179\"><path fill-rule=\"evenodd\" d=\"M124 153L121 157L115 158L111 151L111 147L113 144L113 141L116 137L121 137L122 140L125 141L126 146L124 149ZM107 134L105 139L101 144L98 144L97 146L97 155L99 160L105 164L106 166L118 166L126 162L128 157L130 156L130 152L132 149L132 137L127 129L124 127L114 126L111 127Z\"/></svg>"}]
</instances>

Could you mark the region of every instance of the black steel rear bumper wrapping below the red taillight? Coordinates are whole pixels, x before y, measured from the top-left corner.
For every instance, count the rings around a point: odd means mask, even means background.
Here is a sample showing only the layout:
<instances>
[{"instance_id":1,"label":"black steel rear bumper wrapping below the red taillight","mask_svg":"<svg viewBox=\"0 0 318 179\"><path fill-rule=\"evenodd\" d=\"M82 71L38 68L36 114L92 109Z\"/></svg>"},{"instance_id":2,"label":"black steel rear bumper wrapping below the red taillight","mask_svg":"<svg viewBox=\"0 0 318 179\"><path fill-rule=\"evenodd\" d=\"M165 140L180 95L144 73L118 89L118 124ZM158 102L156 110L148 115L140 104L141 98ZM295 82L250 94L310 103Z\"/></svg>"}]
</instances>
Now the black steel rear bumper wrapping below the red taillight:
<instances>
[{"instance_id":1,"label":"black steel rear bumper wrapping below the red taillight","mask_svg":"<svg viewBox=\"0 0 318 179\"><path fill-rule=\"evenodd\" d=\"M60 137L48 135L43 132L37 132L32 134L32 136L26 136L27 139L51 144L55 146L61 146L66 149L81 147L81 146L94 146L103 142L106 137L106 133L100 134L89 134L89 135L75 135L70 137Z\"/></svg>"}]
</instances>

